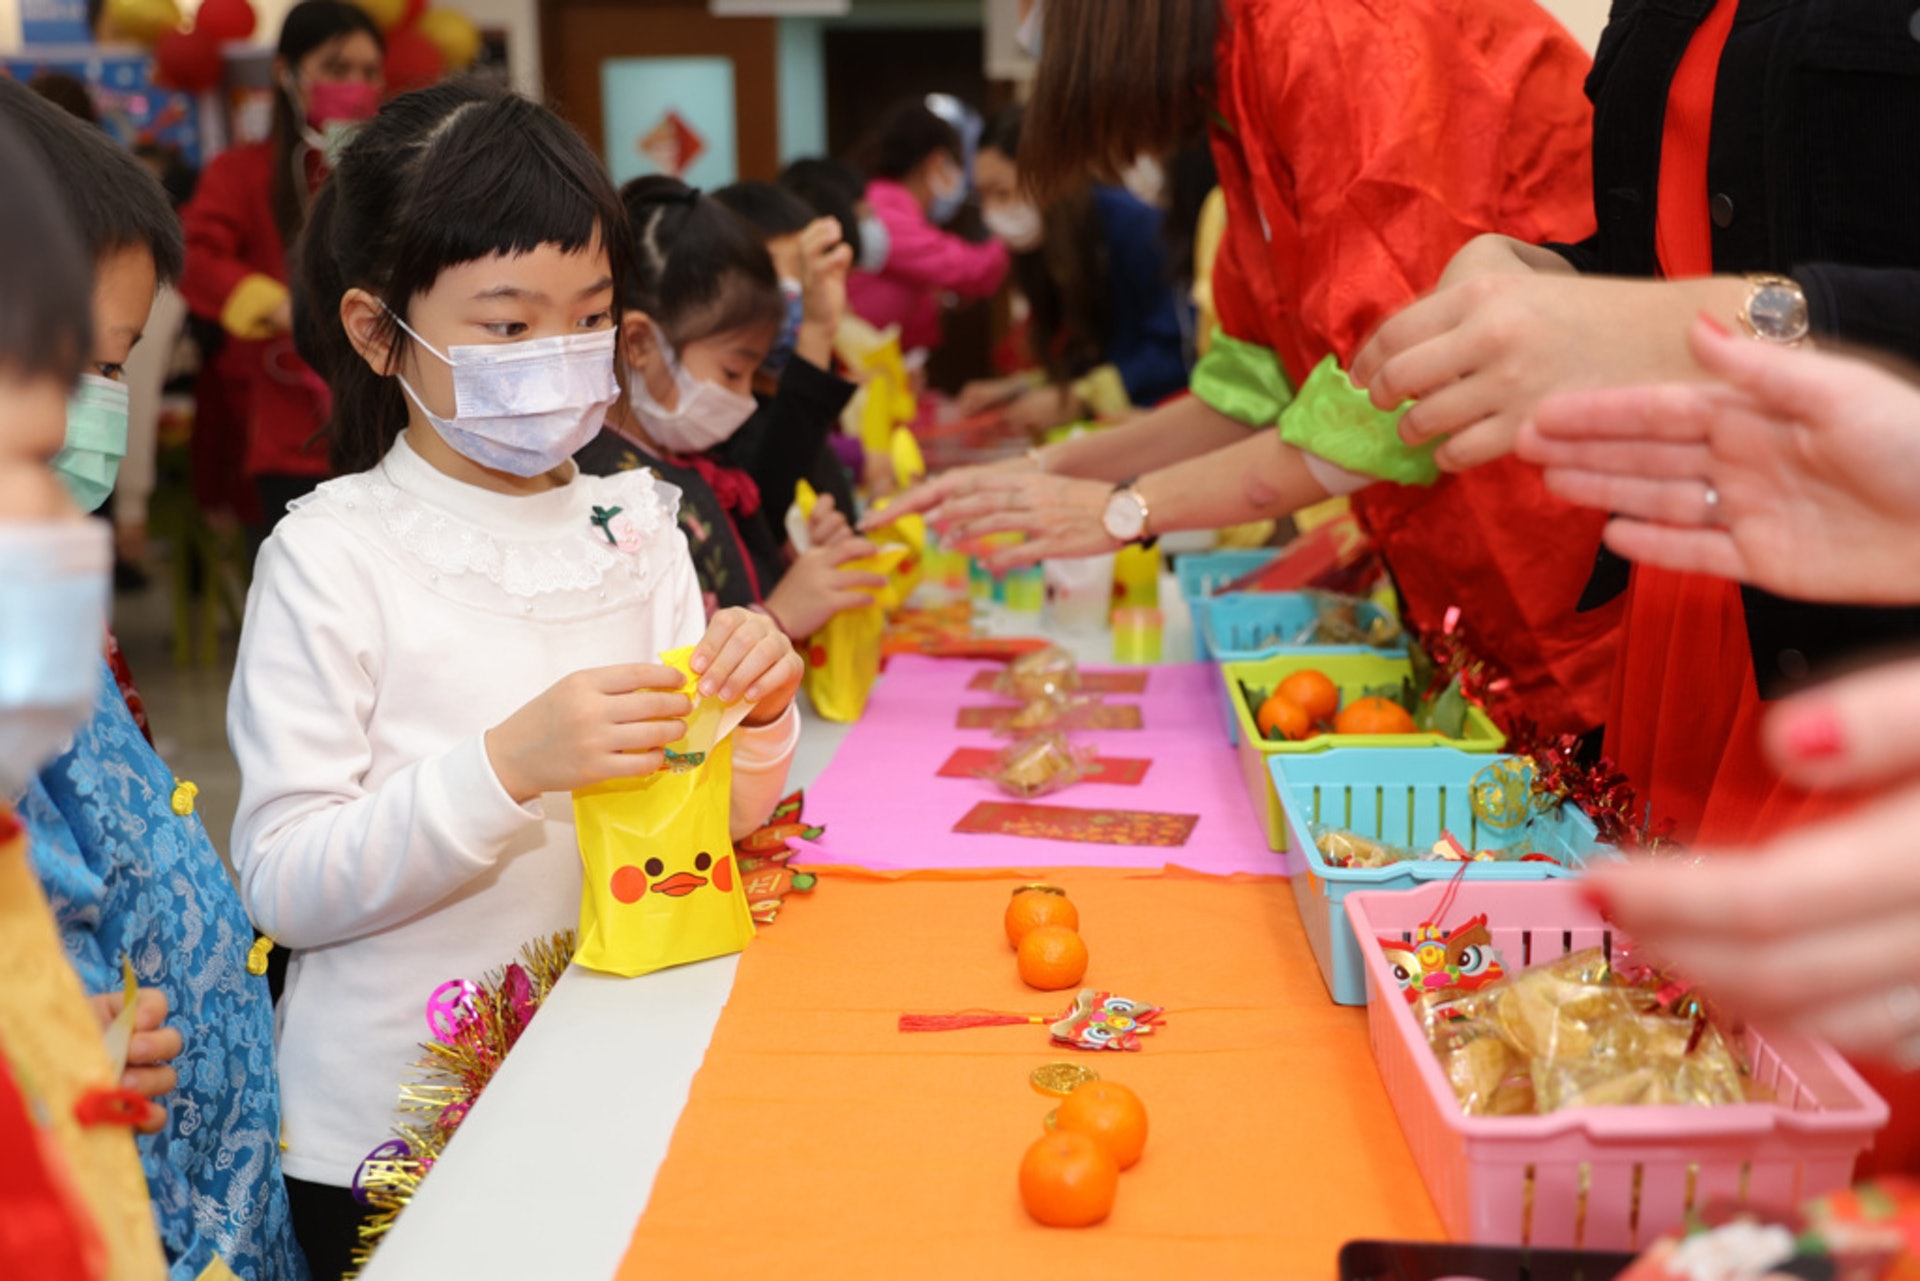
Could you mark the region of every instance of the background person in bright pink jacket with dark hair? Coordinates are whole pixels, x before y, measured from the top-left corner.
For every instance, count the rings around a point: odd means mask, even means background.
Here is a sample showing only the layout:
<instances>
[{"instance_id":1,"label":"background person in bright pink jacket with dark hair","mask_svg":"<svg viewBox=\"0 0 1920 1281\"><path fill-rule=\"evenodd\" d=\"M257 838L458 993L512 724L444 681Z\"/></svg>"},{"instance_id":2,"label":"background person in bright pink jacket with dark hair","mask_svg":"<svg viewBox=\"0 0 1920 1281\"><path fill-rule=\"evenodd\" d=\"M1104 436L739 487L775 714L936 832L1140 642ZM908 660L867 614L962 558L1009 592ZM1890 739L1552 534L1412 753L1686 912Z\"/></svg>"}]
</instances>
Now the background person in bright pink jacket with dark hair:
<instances>
[{"instance_id":1,"label":"background person in bright pink jacket with dark hair","mask_svg":"<svg viewBox=\"0 0 1920 1281\"><path fill-rule=\"evenodd\" d=\"M937 348L943 298L991 298L1010 265L998 240L975 244L941 230L968 196L960 131L912 98L887 111L858 159L866 202L887 229L887 255L879 271L847 280L847 303L876 328L899 325L902 350Z\"/></svg>"}]
</instances>

